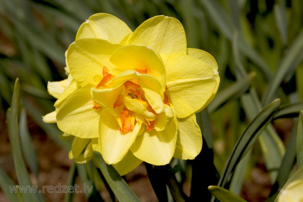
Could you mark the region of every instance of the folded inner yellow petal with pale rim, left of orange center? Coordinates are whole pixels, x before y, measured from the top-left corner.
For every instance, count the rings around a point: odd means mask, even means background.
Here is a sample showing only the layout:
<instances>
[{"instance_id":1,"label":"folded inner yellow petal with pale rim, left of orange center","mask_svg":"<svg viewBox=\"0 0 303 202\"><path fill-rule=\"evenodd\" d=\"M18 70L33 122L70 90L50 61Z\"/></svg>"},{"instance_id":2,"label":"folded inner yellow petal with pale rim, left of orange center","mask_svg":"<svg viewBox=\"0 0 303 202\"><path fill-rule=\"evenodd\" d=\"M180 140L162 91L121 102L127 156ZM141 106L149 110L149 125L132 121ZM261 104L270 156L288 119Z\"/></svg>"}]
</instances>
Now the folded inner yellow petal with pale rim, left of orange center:
<instances>
[{"instance_id":1,"label":"folded inner yellow petal with pale rim, left of orange center","mask_svg":"<svg viewBox=\"0 0 303 202\"><path fill-rule=\"evenodd\" d=\"M121 109L114 108L114 103L121 93L122 88L119 87L105 89L91 88L92 99L107 111L109 111L112 115L116 116L121 113Z\"/></svg>"}]
</instances>

